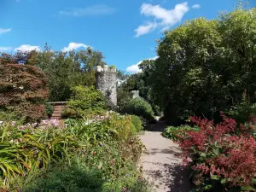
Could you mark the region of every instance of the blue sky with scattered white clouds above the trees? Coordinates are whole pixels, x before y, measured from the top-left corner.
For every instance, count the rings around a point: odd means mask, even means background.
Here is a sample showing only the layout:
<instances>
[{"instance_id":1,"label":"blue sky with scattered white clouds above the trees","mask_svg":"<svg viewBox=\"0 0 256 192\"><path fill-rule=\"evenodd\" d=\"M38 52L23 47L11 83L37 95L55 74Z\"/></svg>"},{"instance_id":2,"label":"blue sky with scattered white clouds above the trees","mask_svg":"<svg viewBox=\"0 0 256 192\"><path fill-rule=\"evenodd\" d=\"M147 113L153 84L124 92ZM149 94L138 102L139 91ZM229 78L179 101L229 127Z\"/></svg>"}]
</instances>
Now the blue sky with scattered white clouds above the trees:
<instances>
[{"instance_id":1,"label":"blue sky with scattered white clouds above the trees","mask_svg":"<svg viewBox=\"0 0 256 192\"><path fill-rule=\"evenodd\" d=\"M256 7L256 0L247 1ZM0 51L88 46L108 65L137 73L154 59L156 39L185 20L215 19L238 0L0 0Z\"/></svg>"}]
</instances>

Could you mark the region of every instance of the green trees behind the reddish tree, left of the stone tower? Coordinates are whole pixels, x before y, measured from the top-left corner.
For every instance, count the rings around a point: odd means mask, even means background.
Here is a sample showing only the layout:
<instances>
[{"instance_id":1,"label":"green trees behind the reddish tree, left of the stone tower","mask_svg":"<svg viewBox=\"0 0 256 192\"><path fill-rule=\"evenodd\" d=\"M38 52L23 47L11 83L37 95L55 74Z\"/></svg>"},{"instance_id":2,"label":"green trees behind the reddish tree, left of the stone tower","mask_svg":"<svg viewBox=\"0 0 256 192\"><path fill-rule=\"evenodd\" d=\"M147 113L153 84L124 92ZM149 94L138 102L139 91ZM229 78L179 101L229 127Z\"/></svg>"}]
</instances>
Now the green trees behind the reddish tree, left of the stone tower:
<instances>
[{"instance_id":1,"label":"green trees behind the reddish tree, left of the stone tower","mask_svg":"<svg viewBox=\"0 0 256 192\"><path fill-rule=\"evenodd\" d=\"M48 79L49 101L66 102L74 86L95 84L94 67L104 65L102 58L101 52L90 48L62 52L54 51L46 44L42 52L19 51L14 55L2 53L0 63L23 63L26 66L40 67Z\"/></svg>"}]
</instances>

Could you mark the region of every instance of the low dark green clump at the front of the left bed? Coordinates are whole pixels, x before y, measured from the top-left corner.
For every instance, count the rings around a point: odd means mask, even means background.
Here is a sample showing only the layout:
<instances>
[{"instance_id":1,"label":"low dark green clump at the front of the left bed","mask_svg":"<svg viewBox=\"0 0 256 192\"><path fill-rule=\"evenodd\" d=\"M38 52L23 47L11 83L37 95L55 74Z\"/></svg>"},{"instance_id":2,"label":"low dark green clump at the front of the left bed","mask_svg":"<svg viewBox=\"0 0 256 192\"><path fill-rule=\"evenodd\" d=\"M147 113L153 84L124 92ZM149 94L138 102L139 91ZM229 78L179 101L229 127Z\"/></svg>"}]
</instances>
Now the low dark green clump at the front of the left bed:
<instances>
[{"instance_id":1,"label":"low dark green clump at the front of the left bed","mask_svg":"<svg viewBox=\"0 0 256 192\"><path fill-rule=\"evenodd\" d=\"M74 158L71 165L60 162L39 172L38 177L28 184L24 191L102 191L102 172L90 169L83 159Z\"/></svg>"}]
</instances>

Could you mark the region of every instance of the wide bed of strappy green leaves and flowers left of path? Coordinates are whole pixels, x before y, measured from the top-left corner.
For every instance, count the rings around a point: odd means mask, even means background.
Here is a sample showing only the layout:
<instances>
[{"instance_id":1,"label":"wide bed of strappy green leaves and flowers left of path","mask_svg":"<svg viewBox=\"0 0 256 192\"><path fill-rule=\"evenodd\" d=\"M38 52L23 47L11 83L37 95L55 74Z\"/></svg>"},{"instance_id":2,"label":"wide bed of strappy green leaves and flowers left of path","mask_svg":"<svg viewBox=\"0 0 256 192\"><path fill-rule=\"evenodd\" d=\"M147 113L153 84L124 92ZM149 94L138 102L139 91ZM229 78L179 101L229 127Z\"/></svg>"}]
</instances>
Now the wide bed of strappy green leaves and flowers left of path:
<instances>
[{"instance_id":1,"label":"wide bed of strappy green leaves and flowers left of path","mask_svg":"<svg viewBox=\"0 0 256 192\"><path fill-rule=\"evenodd\" d=\"M146 191L137 166L143 145L131 132L129 116L54 123L44 129L0 125L2 189Z\"/></svg>"}]
</instances>

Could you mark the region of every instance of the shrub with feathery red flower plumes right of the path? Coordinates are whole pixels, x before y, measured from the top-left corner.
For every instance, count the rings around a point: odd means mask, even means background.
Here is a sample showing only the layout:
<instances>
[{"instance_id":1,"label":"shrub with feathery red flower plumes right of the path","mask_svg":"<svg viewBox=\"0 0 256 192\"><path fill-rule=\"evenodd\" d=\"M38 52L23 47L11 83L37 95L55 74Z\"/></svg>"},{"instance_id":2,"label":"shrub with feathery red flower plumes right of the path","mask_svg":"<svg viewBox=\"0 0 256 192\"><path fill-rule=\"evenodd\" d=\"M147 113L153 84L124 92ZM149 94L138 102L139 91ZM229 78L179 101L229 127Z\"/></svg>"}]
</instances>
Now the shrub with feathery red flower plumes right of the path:
<instances>
[{"instance_id":1,"label":"shrub with feathery red flower plumes right of the path","mask_svg":"<svg viewBox=\"0 0 256 192\"><path fill-rule=\"evenodd\" d=\"M185 131L177 143L183 148L184 162L194 170L199 191L240 188L255 190L256 140L253 122L237 128L236 121L222 113L223 122L191 117L200 131ZM253 119L252 119L253 120ZM212 182L217 180L218 182Z\"/></svg>"}]
</instances>

